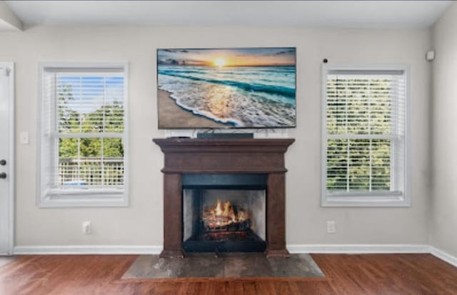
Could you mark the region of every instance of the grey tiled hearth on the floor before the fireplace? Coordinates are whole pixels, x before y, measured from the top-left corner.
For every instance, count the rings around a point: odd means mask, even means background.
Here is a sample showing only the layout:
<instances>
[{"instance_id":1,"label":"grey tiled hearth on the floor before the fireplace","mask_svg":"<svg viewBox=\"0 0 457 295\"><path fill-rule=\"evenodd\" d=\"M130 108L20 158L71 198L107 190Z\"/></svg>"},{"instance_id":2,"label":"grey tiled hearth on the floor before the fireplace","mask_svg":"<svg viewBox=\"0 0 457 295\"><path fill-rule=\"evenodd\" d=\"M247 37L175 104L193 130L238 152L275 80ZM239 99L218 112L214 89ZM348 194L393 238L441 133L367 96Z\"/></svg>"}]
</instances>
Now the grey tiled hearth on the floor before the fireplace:
<instances>
[{"instance_id":1,"label":"grey tiled hearth on the floor before the fireplace","mask_svg":"<svg viewBox=\"0 0 457 295\"><path fill-rule=\"evenodd\" d=\"M267 258L264 254L189 254L186 259L139 256L122 279L323 278L308 254Z\"/></svg>"}]
</instances>

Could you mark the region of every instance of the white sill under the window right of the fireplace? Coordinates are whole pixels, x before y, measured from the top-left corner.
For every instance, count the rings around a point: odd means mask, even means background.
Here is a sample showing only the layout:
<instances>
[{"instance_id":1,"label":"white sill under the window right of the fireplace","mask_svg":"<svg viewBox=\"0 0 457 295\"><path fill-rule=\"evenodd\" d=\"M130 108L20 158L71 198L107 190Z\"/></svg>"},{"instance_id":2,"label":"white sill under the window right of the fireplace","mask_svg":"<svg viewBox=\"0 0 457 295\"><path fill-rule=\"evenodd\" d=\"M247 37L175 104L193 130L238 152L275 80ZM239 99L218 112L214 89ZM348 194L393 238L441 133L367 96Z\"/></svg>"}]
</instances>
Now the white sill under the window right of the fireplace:
<instances>
[{"instance_id":1,"label":"white sill under the window right of the fireplace","mask_svg":"<svg viewBox=\"0 0 457 295\"><path fill-rule=\"evenodd\" d=\"M411 200L403 194L376 196L324 195L322 207L411 207Z\"/></svg>"}]
</instances>

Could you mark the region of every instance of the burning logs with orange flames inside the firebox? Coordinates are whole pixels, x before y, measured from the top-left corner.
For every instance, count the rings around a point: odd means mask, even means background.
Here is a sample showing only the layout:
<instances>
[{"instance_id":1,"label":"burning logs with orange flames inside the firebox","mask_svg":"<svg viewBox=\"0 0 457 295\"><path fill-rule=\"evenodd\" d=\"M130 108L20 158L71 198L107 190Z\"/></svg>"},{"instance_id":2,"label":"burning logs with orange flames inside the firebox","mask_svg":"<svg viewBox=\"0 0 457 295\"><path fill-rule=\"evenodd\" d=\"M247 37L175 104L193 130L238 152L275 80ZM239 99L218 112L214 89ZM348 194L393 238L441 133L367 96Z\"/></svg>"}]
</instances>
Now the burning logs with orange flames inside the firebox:
<instances>
[{"instance_id":1,"label":"burning logs with orange flames inside the firebox","mask_svg":"<svg viewBox=\"0 0 457 295\"><path fill-rule=\"evenodd\" d=\"M203 219L206 226L214 229L246 221L248 214L241 209L235 210L230 201L223 203L220 199L217 199L216 206L204 209Z\"/></svg>"}]
</instances>

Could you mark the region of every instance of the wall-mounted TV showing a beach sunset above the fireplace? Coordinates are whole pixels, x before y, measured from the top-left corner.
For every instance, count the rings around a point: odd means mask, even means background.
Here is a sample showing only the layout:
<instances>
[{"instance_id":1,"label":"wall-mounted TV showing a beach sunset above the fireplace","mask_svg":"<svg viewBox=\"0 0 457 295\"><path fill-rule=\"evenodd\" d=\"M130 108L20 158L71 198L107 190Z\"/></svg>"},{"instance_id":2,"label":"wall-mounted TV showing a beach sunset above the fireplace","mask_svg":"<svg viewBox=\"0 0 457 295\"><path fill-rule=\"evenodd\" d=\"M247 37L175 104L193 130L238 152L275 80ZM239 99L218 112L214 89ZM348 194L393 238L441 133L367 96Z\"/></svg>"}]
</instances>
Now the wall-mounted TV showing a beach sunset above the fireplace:
<instances>
[{"instance_id":1,"label":"wall-mounted TV showing a beach sunset above the fireplace","mask_svg":"<svg viewBox=\"0 0 457 295\"><path fill-rule=\"evenodd\" d=\"M159 129L296 126L296 49L158 49Z\"/></svg>"}]
</instances>

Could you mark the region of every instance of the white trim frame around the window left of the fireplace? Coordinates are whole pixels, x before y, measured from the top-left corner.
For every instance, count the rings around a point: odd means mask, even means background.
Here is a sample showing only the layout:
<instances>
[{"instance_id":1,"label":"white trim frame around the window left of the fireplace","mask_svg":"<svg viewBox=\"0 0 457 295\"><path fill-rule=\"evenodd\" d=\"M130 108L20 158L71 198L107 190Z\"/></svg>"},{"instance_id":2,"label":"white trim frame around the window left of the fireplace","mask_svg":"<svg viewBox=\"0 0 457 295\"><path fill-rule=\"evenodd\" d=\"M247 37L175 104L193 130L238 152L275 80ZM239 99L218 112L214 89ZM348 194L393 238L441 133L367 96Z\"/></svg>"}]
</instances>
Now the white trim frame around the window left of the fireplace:
<instances>
[{"instance_id":1,"label":"white trim frame around the window left of the fireplace","mask_svg":"<svg viewBox=\"0 0 457 295\"><path fill-rule=\"evenodd\" d=\"M124 69L124 189L121 192L116 189L101 189L94 191L94 194L80 194L78 191L61 190L56 194L46 194L41 176L44 175L43 165L45 159L41 153L41 106L43 100L43 73L46 68L111 68ZM41 62L39 64L39 107L37 115L37 165L36 165L36 206L40 208L59 208L59 207L126 207L129 206L129 62ZM91 191L92 192L92 191Z\"/></svg>"}]
</instances>

